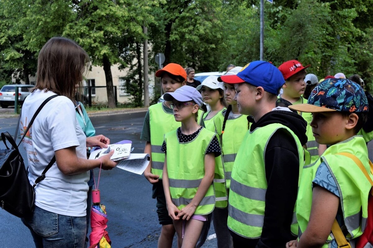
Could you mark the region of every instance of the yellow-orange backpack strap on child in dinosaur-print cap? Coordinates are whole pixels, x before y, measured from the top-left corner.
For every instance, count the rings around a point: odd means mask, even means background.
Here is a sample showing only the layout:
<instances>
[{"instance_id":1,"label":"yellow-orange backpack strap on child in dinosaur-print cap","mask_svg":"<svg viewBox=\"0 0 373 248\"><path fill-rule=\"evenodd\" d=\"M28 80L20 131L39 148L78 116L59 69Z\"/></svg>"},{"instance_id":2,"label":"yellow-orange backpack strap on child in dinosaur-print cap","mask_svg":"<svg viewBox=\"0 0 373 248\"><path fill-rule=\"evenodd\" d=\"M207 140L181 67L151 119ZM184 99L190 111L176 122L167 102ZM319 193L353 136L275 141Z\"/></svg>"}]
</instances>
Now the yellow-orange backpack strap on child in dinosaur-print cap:
<instances>
[{"instance_id":1,"label":"yellow-orange backpack strap on child in dinosaur-print cap","mask_svg":"<svg viewBox=\"0 0 373 248\"><path fill-rule=\"evenodd\" d=\"M365 177L368 179L369 183L372 184L372 186L373 186L372 178L370 178L370 176L367 173L367 170L365 169L363 163L355 155L353 155L349 152L339 152L337 154L346 156L348 158L351 158L355 162L355 164L360 168L360 170L363 172ZM369 165L370 165L370 171L372 172L373 171L373 164L370 160L369 160ZM373 195L373 188L370 190L370 194ZM345 235L343 235L341 227L338 225L338 222L337 222L336 219L334 220L333 225L332 225L332 233L334 235L335 241L337 242L339 248L341 248L341 247L351 248L350 243L347 242L347 240L345 238Z\"/></svg>"}]
</instances>

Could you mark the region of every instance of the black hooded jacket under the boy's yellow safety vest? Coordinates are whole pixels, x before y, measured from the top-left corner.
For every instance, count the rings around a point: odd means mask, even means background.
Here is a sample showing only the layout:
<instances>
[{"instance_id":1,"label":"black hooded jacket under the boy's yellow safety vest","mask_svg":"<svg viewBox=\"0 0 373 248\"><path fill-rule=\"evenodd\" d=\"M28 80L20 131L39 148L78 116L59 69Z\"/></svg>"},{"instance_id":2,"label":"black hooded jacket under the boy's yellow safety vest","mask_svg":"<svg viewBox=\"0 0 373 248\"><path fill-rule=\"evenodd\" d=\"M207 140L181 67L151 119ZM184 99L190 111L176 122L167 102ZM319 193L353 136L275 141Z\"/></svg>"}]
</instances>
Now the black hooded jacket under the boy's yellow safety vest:
<instances>
[{"instance_id":1,"label":"black hooded jacket under the boy's yellow safety vest","mask_svg":"<svg viewBox=\"0 0 373 248\"><path fill-rule=\"evenodd\" d=\"M250 131L272 123L280 123L298 136L302 145L307 142L305 120L297 113L275 110L253 123ZM291 234L295 200L298 191L299 158L294 138L286 129L279 129L270 138L264 155L267 178L266 208L261 238L248 239L248 247L283 248L295 239ZM256 244L255 244L256 243Z\"/></svg>"}]
</instances>

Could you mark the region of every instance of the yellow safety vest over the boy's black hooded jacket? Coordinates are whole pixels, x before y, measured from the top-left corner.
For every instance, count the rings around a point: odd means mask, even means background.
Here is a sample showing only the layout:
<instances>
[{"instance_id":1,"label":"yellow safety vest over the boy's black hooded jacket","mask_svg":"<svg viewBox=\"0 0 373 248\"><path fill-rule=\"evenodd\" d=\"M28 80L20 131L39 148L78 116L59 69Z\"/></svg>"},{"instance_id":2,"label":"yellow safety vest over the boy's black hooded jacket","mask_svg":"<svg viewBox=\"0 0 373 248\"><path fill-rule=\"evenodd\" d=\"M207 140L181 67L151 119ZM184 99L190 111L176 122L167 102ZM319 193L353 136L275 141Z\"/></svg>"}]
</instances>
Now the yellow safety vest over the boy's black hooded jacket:
<instances>
[{"instance_id":1,"label":"yellow safety vest over the boy's black hooded jacket","mask_svg":"<svg viewBox=\"0 0 373 248\"><path fill-rule=\"evenodd\" d=\"M267 142L280 128L286 129L293 136L298 148L300 170L303 168L303 147L289 128L273 123L246 133L233 165L228 207L228 228L240 236L258 238L261 235L267 190L264 154ZM294 219L290 228L293 233L297 233L298 226Z\"/></svg>"}]
</instances>

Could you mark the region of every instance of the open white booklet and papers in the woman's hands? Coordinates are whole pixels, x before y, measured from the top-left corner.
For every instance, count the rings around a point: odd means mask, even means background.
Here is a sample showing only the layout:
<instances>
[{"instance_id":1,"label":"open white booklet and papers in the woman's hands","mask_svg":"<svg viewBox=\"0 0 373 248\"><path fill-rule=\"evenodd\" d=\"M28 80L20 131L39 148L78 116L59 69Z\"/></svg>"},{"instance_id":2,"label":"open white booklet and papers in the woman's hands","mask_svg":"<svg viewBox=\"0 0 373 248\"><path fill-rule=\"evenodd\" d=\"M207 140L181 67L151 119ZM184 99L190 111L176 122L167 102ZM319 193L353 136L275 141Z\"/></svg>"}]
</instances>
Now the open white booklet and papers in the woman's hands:
<instances>
[{"instance_id":1,"label":"open white booklet and papers in the woman's hands","mask_svg":"<svg viewBox=\"0 0 373 248\"><path fill-rule=\"evenodd\" d=\"M107 148L94 148L91 150L89 159L100 158L114 150L111 160L116 161L117 168L141 175L150 162L149 154L131 153L132 141L123 140L108 145Z\"/></svg>"}]
</instances>

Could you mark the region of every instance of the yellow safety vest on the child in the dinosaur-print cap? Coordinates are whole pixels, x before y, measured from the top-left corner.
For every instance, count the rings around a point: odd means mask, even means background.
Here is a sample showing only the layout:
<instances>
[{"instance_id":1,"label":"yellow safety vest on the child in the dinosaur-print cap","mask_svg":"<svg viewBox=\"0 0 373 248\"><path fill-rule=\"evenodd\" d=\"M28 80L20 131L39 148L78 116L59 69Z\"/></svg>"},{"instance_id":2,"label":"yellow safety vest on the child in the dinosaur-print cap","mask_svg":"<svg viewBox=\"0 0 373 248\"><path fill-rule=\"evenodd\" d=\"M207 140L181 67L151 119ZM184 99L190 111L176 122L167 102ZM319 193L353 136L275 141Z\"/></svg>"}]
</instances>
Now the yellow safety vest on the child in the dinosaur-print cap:
<instances>
[{"instance_id":1,"label":"yellow safety vest on the child in the dinosaur-print cap","mask_svg":"<svg viewBox=\"0 0 373 248\"><path fill-rule=\"evenodd\" d=\"M307 228L310 218L312 204L312 181L316 176L317 169L322 162L325 162L330 174L338 187L344 224L352 239L357 238L364 231L367 218L367 202L371 185L364 174L350 158L337 155L338 152L349 152L363 162L364 167L372 177L367 158L365 141L360 136L353 136L350 139L330 146L323 153L322 157L314 164L304 166L302 180L297 197L297 219L301 232ZM328 237L327 247L332 240ZM350 240L351 238L347 238Z\"/></svg>"}]
</instances>

